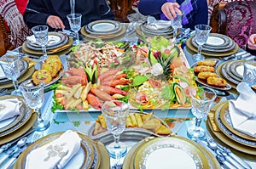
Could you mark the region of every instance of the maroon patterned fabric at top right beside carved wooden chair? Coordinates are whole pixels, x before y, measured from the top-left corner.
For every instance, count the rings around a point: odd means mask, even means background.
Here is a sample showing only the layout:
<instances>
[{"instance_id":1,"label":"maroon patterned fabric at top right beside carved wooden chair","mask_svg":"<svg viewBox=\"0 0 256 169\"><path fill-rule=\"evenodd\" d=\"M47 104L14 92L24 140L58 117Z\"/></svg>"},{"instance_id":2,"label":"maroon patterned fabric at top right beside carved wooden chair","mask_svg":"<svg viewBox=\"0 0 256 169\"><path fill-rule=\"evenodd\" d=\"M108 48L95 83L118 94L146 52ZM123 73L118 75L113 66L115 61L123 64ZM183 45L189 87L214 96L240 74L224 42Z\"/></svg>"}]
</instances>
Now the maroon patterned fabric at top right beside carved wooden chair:
<instances>
[{"instance_id":1,"label":"maroon patterned fabric at top right beside carved wooden chair","mask_svg":"<svg viewBox=\"0 0 256 169\"><path fill-rule=\"evenodd\" d=\"M226 35L245 49L248 37L256 33L256 3L233 2L224 9L227 14Z\"/></svg>"}]
</instances>

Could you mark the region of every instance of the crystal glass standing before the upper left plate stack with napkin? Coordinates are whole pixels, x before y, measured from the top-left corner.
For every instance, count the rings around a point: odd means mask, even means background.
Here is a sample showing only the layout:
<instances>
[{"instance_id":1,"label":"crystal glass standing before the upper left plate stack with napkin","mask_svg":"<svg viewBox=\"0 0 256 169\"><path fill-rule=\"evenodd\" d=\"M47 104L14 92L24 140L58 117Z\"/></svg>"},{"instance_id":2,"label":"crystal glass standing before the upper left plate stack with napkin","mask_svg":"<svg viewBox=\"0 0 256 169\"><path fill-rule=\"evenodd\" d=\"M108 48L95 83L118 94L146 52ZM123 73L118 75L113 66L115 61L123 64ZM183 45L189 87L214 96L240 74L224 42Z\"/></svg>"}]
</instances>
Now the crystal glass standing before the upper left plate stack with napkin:
<instances>
[{"instance_id":1,"label":"crystal glass standing before the upper left plate stack with napkin","mask_svg":"<svg viewBox=\"0 0 256 169\"><path fill-rule=\"evenodd\" d=\"M36 42L38 45L42 47L43 57L41 60L47 59L48 55L46 52L46 44L48 43L48 26L47 25L37 25L32 27L32 32L36 38Z\"/></svg>"}]
</instances>

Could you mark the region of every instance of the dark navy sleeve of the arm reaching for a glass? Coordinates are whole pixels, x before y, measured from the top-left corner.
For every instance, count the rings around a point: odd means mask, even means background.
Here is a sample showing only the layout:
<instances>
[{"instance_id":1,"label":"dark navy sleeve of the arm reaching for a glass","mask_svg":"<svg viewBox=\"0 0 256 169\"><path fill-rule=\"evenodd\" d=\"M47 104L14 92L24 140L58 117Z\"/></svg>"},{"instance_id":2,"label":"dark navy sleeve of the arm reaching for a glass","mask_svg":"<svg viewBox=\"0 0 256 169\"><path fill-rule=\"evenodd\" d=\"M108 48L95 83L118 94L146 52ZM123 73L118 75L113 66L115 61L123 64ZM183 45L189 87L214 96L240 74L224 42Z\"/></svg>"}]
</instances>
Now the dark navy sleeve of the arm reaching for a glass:
<instances>
[{"instance_id":1,"label":"dark navy sleeve of the arm reaching for a glass","mask_svg":"<svg viewBox=\"0 0 256 169\"><path fill-rule=\"evenodd\" d=\"M138 10L143 15L159 15L162 13L161 6L166 0L140 0Z\"/></svg>"}]
</instances>

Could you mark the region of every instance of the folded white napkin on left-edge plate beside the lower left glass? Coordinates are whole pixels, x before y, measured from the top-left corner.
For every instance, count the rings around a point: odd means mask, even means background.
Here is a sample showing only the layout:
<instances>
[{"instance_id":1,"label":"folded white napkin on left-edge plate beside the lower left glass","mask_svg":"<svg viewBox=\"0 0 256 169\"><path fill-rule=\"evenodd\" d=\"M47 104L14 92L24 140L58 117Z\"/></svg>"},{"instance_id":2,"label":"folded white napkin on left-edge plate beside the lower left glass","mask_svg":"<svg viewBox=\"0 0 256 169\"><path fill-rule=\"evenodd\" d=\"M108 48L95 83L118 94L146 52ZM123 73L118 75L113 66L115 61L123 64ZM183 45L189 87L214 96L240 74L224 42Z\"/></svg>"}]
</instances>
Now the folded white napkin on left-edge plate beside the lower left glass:
<instances>
[{"instance_id":1,"label":"folded white napkin on left-edge plate beside the lower left glass","mask_svg":"<svg viewBox=\"0 0 256 169\"><path fill-rule=\"evenodd\" d=\"M22 102L18 99L0 100L0 121L4 121L20 114Z\"/></svg>"}]
</instances>

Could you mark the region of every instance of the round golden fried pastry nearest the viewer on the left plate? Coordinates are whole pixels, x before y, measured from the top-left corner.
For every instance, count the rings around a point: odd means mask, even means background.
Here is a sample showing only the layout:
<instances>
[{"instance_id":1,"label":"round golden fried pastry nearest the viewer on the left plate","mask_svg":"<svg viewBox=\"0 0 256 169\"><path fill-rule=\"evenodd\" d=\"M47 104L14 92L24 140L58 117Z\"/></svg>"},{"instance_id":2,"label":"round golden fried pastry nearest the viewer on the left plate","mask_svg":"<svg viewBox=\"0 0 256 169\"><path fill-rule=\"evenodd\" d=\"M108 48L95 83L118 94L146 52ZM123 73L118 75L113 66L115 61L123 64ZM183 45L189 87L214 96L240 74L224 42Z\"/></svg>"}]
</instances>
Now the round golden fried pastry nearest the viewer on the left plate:
<instances>
[{"instance_id":1,"label":"round golden fried pastry nearest the viewer on the left plate","mask_svg":"<svg viewBox=\"0 0 256 169\"><path fill-rule=\"evenodd\" d=\"M44 81L44 84L51 82L51 76L48 70L37 70L32 75L33 82L38 85L41 81Z\"/></svg>"}]
</instances>

